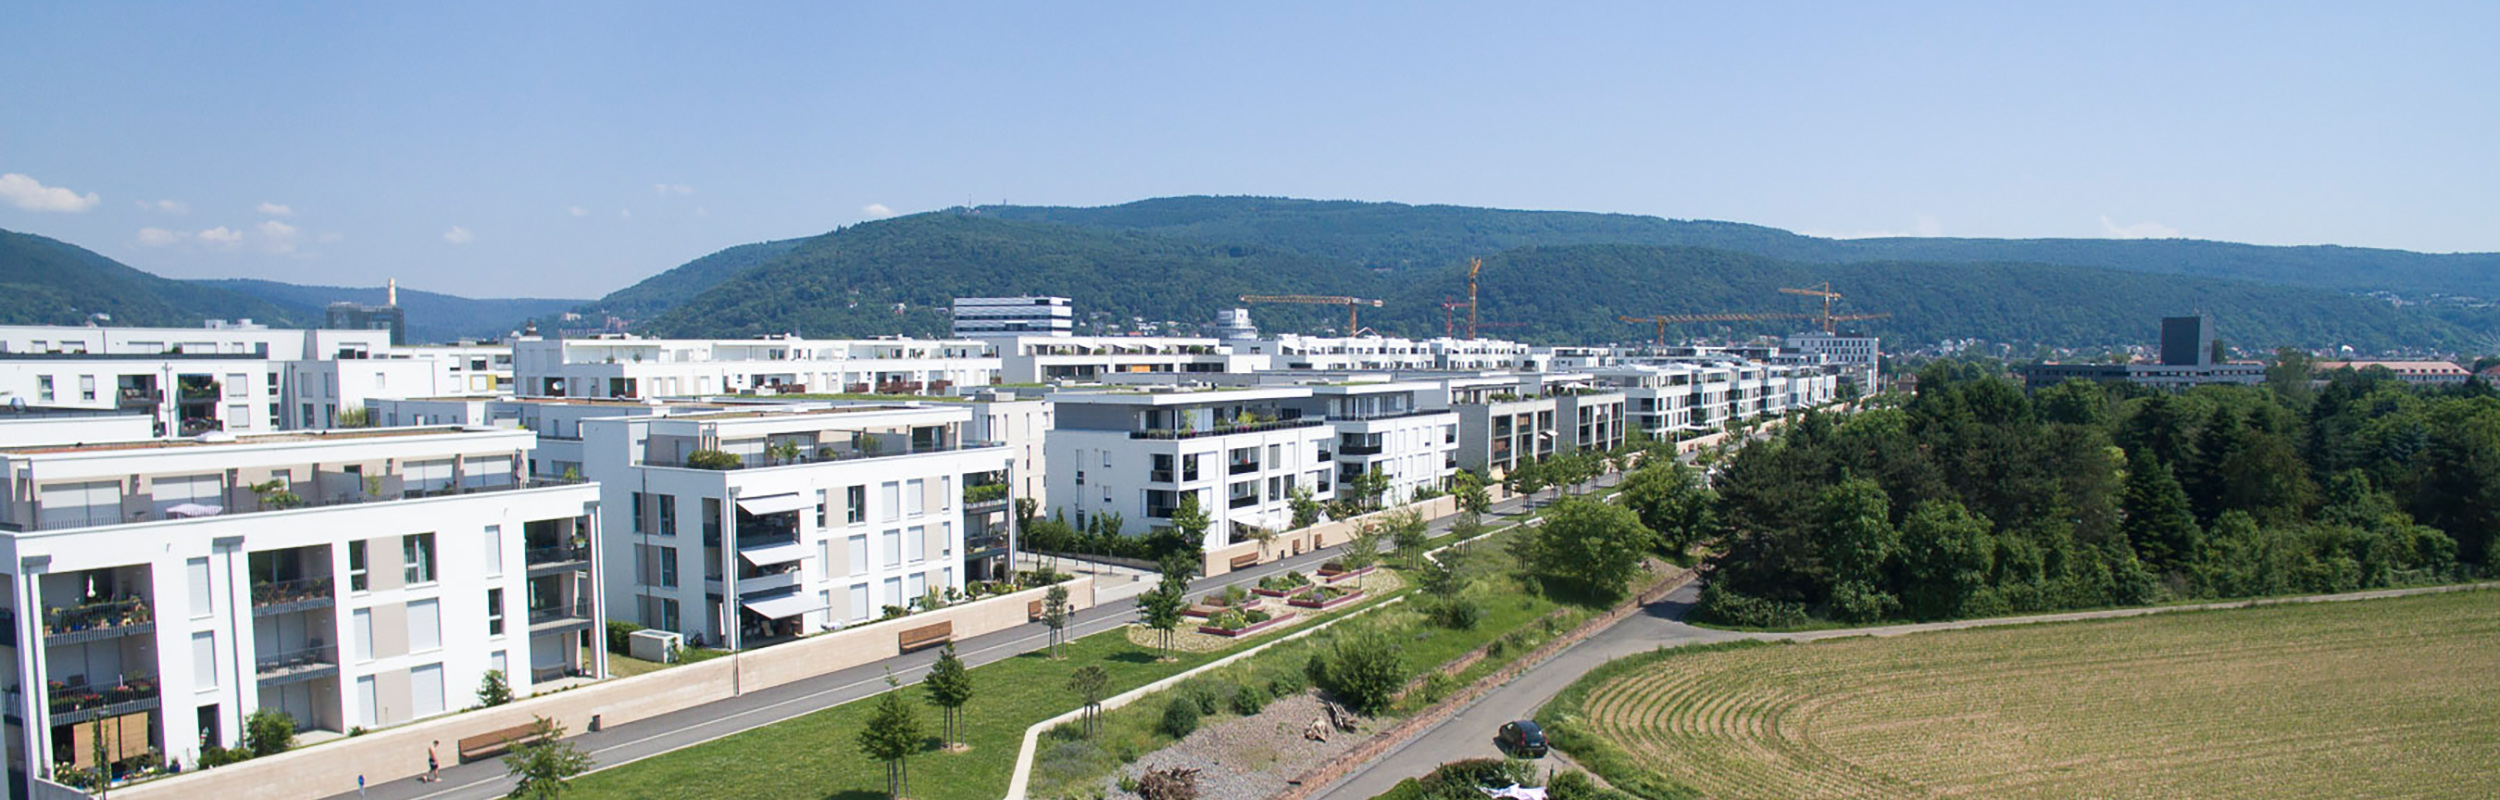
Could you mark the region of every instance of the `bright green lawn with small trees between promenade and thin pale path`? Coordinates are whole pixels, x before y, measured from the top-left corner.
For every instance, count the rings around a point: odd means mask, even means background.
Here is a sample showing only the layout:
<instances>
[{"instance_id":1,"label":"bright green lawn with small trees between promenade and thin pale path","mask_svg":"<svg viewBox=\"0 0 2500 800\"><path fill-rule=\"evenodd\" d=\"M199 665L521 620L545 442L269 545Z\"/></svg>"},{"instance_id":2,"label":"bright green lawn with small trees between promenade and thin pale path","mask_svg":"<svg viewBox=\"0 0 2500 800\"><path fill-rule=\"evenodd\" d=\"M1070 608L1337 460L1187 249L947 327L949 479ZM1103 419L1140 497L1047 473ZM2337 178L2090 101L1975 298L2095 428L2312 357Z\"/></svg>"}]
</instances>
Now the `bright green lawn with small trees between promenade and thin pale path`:
<instances>
[{"instance_id":1,"label":"bright green lawn with small trees between promenade and thin pale path","mask_svg":"<svg viewBox=\"0 0 2500 800\"><path fill-rule=\"evenodd\" d=\"M912 758L910 795L918 800L998 800L1025 728L1078 708L1068 672L1102 665L1110 692L1202 665L1218 655L1182 655L1155 662L1122 635L1090 635L1062 648L1062 660L1025 652L972 670L975 695L965 705L962 732L970 752L940 752L942 718L918 685L902 688L930 732L930 748ZM565 798L885 798L885 768L860 755L858 732L872 700L845 702L798 720L765 725L678 752L582 775Z\"/></svg>"}]
</instances>

